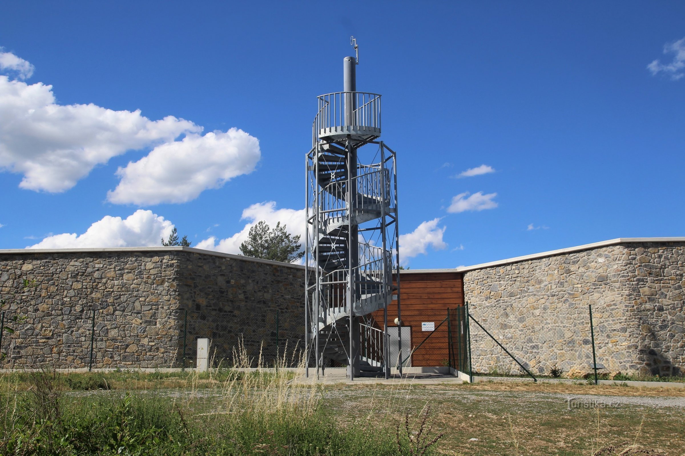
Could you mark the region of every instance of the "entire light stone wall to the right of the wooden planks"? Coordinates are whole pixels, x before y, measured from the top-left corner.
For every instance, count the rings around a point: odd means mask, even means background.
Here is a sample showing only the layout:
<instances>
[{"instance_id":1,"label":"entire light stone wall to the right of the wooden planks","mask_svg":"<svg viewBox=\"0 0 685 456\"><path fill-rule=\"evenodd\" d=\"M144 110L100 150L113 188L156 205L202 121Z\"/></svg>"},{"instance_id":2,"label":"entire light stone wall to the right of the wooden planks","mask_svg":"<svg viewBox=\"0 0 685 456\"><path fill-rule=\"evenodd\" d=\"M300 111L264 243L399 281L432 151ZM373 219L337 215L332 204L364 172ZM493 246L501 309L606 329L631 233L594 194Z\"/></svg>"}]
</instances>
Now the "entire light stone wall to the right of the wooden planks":
<instances>
[{"instance_id":1,"label":"entire light stone wall to the right of the wooden planks","mask_svg":"<svg viewBox=\"0 0 685 456\"><path fill-rule=\"evenodd\" d=\"M534 373L588 373L593 308L597 362L612 373L685 369L685 243L625 243L466 271L471 314ZM473 368L519 373L471 323Z\"/></svg>"}]
</instances>

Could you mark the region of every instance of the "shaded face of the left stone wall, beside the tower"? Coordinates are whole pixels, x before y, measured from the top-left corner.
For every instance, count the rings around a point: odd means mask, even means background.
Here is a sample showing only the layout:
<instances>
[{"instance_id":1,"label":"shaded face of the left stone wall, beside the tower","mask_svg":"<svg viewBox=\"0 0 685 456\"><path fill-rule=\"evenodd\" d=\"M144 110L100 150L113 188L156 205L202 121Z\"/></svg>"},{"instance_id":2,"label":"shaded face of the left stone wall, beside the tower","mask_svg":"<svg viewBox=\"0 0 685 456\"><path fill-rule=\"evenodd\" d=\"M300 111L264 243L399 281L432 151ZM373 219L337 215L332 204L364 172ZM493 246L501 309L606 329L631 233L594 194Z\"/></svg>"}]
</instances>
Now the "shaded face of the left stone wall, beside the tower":
<instances>
[{"instance_id":1,"label":"shaded face of the left stone wall, beside the tower","mask_svg":"<svg viewBox=\"0 0 685 456\"><path fill-rule=\"evenodd\" d=\"M304 335L304 269L205 254L188 254L179 267L179 296L188 309L186 358L195 360L195 338L211 340L214 364L235 360L245 348L253 366L271 365L279 343L292 357ZM278 329L279 334L276 334Z\"/></svg>"}]
</instances>

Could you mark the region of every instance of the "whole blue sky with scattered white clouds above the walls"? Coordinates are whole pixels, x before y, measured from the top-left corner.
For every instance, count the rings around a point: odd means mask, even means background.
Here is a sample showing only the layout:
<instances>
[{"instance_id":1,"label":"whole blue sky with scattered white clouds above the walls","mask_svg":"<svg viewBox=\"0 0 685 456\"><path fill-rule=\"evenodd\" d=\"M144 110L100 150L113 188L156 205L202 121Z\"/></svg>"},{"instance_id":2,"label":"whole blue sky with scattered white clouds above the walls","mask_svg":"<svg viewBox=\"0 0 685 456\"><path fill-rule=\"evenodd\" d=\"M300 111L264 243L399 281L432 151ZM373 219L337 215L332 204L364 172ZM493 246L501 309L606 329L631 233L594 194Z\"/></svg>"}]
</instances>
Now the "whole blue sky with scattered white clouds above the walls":
<instances>
[{"instance_id":1,"label":"whole blue sky with scattered white clouds above the walls","mask_svg":"<svg viewBox=\"0 0 685 456\"><path fill-rule=\"evenodd\" d=\"M0 249L301 232L351 35L412 269L685 235L684 3L345 5L3 2Z\"/></svg>"}]
</instances>

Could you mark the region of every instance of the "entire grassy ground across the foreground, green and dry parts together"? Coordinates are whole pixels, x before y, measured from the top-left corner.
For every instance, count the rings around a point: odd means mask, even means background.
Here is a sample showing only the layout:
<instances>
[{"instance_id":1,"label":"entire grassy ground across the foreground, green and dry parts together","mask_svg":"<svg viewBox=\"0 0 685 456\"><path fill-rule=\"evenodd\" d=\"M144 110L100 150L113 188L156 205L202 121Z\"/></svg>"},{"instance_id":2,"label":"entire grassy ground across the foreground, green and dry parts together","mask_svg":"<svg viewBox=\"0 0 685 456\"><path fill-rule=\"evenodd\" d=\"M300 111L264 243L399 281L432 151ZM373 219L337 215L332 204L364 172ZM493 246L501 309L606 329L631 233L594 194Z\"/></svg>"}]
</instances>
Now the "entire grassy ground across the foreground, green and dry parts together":
<instances>
[{"instance_id":1,"label":"entire grassy ground across the foreground, green and dry parts together","mask_svg":"<svg viewBox=\"0 0 685 456\"><path fill-rule=\"evenodd\" d=\"M597 413L569 410L565 400L683 397L681 390L532 382L298 385L282 371L205 378L210 383L202 388L187 377L179 378L190 387L166 388L169 377L145 374L134 380L146 381L147 390L79 391L64 375L23 375L26 388L0 384L0 455L399 456L420 453L410 446L418 435L425 445L441 434L426 455L590 456L621 444L601 453L617 455L633 442L662 448L643 455L685 453L681 408L622 405Z\"/></svg>"}]
</instances>

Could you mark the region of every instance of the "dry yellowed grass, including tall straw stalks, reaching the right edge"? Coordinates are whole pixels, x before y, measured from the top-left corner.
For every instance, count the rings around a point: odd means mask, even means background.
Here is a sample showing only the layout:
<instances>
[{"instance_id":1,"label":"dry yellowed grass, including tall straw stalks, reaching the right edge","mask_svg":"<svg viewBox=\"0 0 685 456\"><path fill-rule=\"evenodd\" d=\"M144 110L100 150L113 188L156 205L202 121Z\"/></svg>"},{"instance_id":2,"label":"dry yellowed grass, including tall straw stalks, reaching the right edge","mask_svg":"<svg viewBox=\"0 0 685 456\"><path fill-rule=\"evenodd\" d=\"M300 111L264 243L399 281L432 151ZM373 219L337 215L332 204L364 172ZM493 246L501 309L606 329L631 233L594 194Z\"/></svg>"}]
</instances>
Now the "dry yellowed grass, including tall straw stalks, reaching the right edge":
<instances>
[{"instance_id":1,"label":"dry yellowed grass, including tall straw stalks, reaching the right edge","mask_svg":"<svg viewBox=\"0 0 685 456\"><path fill-rule=\"evenodd\" d=\"M412 438L421 433L427 438L425 444L442 434L430 449L449 455L685 455L682 408L625 405L568 410L565 401L569 395L581 394L666 400L685 397L682 389L518 382L421 385L408 379L396 384L321 386L292 381L293 373L284 369L285 362L277 371L263 369L238 375L240 368L253 365L254 360L240 349L235 358L241 361L230 370L172 377L139 373L110 378L109 386L138 390L140 394L153 390L169 397L175 403L174 410L191 427L203 423L207 429L238 416L253 423L265 416L306 419L319 411L336 420L343 431L384 429L393 441L398 423L404 442L414 442ZM3 391L26 388L19 377L9 378L5 378ZM80 397L82 393L69 394ZM5 412L18 413L16 401L10 401L12 394L2 397ZM428 407L432 410L431 432L427 432L425 421ZM266 445L267 440L259 445Z\"/></svg>"}]
</instances>

